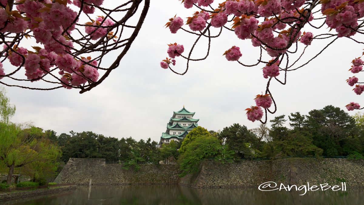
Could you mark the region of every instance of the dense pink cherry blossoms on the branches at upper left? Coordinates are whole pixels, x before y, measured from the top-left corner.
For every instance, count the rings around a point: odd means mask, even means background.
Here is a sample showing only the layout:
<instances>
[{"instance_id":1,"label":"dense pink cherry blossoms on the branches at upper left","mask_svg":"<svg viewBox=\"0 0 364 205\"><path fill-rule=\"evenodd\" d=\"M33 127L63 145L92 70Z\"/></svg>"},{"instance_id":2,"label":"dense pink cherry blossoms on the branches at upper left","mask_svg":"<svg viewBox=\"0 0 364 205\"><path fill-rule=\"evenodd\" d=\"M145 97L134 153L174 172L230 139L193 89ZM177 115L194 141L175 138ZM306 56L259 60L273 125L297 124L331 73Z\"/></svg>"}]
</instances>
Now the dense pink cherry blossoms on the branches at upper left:
<instances>
[{"instance_id":1,"label":"dense pink cherry blossoms on the branches at upper left","mask_svg":"<svg viewBox=\"0 0 364 205\"><path fill-rule=\"evenodd\" d=\"M31 82L38 81L48 74L51 67L57 66L61 77L60 83L65 88L70 85L79 86L86 82L95 82L99 78L98 62L91 57L83 58L72 55L74 48L68 35L75 30L78 22L78 12L72 10L68 4L82 7L87 14L94 13L95 6L102 5L103 0L44 0L19 1L12 11L7 1L1 0L0 27L1 32L23 33L26 38L34 37L36 43L43 47L32 46L35 51L14 45L4 45L7 59L13 66L24 66L25 76ZM111 19L98 16L96 20L86 23L85 32L90 39L96 40L104 36L109 37L109 28L114 24ZM87 36L86 36L87 37ZM113 36L115 38L115 36ZM1 75L5 75L3 65L0 66Z\"/></svg>"}]
</instances>

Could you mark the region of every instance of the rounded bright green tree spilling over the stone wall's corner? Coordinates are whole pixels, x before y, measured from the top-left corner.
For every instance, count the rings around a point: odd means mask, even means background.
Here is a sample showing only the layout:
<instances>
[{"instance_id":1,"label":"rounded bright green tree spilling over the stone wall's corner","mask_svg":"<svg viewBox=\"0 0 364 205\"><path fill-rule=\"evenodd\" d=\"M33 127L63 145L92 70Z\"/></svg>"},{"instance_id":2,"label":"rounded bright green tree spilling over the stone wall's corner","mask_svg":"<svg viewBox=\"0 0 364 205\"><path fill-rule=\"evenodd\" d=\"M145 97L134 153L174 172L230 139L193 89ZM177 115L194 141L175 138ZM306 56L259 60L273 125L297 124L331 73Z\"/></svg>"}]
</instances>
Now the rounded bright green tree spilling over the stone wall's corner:
<instances>
[{"instance_id":1,"label":"rounded bright green tree spilling over the stone wall's corner","mask_svg":"<svg viewBox=\"0 0 364 205\"><path fill-rule=\"evenodd\" d=\"M214 158L222 163L232 160L233 153L221 145L219 139L211 135L195 138L186 145L185 149L186 151L178 159L182 171L181 177L197 172L200 163L205 158Z\"/></svg>"}]
</instances>

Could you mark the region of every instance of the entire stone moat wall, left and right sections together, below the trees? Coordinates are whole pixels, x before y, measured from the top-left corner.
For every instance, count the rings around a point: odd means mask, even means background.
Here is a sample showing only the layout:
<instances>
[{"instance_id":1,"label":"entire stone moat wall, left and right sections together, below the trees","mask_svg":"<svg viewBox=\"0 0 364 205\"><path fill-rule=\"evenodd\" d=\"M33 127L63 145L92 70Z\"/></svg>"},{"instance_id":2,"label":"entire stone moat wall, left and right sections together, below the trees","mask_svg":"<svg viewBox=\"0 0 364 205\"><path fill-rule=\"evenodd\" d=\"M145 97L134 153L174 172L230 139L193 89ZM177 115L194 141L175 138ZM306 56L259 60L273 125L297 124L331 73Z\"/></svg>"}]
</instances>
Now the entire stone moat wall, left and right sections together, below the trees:
<instances>
[{"instance_id":1,"label":"entire stone moat wall, left and right sections together, below the trees","mask_svg":"<svg viewBox=\"0 0 364 205\"><path fill-rule=\"evenodd\" d=\"M57 183L181 184L192 187L257 187L264 182L284 185L341 185L364 187L364 160L288 158L219 163L205 160L199 172L179 178L176 165L141 164L138 171L124 170L105 159L71 158Z\"/></svg>"}]
</instances>

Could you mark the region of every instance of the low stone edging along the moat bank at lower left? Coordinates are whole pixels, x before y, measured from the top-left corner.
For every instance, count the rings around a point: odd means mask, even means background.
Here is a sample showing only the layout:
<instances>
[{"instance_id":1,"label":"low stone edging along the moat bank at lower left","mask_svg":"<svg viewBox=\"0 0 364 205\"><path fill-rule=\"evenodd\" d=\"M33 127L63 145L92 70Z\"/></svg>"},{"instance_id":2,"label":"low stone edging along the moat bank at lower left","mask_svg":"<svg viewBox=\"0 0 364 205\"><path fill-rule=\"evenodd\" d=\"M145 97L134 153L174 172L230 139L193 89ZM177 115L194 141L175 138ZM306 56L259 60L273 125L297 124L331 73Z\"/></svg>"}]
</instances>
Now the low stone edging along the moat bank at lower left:
<instances>
[{"instance_id":1,"label":"low stone edging along the moat bank at lower left","mask_svg":"<svg viewBox=\"0 0 364 205\"><path fill-rule=\"evenodd\" d=\"M12 193L4 193L0 194L0 201L12 200L17 198L24 198L24 197L33 197L41 194L56 194L60 192L69 191L72 189L76 189L76 186L66 186L66 187L59 187L54 189L37 189L37 190L30 190L30 191L23 191L23 192L12 192Z\"/></svg>"}]
</instances>

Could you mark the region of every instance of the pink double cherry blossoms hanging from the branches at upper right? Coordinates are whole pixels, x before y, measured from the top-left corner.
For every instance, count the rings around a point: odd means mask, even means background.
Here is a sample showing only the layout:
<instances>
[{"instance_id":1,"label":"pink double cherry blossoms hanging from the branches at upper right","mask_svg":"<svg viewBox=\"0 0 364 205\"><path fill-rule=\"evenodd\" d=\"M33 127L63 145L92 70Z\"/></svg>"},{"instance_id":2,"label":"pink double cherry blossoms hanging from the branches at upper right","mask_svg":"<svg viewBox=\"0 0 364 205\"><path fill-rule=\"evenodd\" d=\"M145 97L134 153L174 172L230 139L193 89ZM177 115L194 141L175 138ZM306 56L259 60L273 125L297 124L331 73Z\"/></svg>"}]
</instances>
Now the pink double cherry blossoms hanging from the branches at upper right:
<instances>
[{"instance_id":1,"label":"pink double cherry blossoms hanging from the branches at upper right","mask_svg":"<svg viewBox=\"0 0 364 205\"><path fill-rule=\"evenodd\" d=\"M201 11L197 11L187 18L185 24L189 26L190 30L187 32L200 36L204 35L210 40L212 35L207 36L207 29L211 29L212 27L222 29L222 27L224 27L233 31L238 39L249 39L252 46L260 47L262 52L265 52L272 57L273 59L262 68L264 78L275 78L279 76L280 70L284 70L280 68L281 62L279 59L285 59L280 57L286 55L288 61L288 54L296 53L298 50L298 42L305 46L309 46L313 39L318 36L320 37L317 39L331 37L324 37L322 35L317 35L315 37L312 32L305 32L303 30L306 24L310 24L310 26L316 28L316 26L310 22L314 19L313 14L318 12L317 9L321 11L321 13L315 14L316 19L324 19L325 22L323 23L327 24L330 31L334 30L335 35L339 38L349 37L360 32L362 29L358 29L360 28L358 27L358 22L361 22L362 20L360 20L360 18L364 17L363 0L320 0L316 3L314 3L314 1L310 2L305 0L221 0L218 4L216 1L214 3L213 0L182 0L182 3L184 7L188 9L193 8L193 5L197 5L199 9L202 7ZM217 8L214 9L213 5L211 5L212 3L214 3ZM317 8L316 10L313 9L315 7ZM321 14L324 15L323 18L320 16ZM231 28L228 28L228 22L232 22ZM171 33L175 34L183 26L182 18L177 17L176 15L174 18L170 19L170 22L168 22L166 26L170 28ZM183 28L183 30L185 29ZM292 47L292 45L296 45L296 51L293 49L288 52L288 49ZM227 61L238 61L242 57L240 47L234 45L229 50L225 51L223 55L225 55ZM177 48L171 45L169 45L167 53L170 58L178 57L178 54L180 54L177 51ZM263 55L261 54L257 64L261 62L266 63L266 61L261 59L262 56ZM301 57L299 57L297 61L300 58ZM239 63L241 62L239 61ZM359 73L363 70L363 63L364 62L360 58L356 58L353 60L350 71L352 73ZM161 62L161 67L163 68L168 67L168 65L169 63L167 62ZM287 62L287 66L288 65ZM350 86L355 85L355 88L353 89L354 92L356 94L361 94L364 91L364 85L358 85L358 81L359 79L353 76L349 77L347 83ZM272 104L270 95L265 97L257 96L255 101L256 106L247 109L247 116L251 121L260 120L263 114L262 108L267 109ZM352 107L358 109L358 106L356 105L352 105Z\"/></svg>"}]
</instances>

